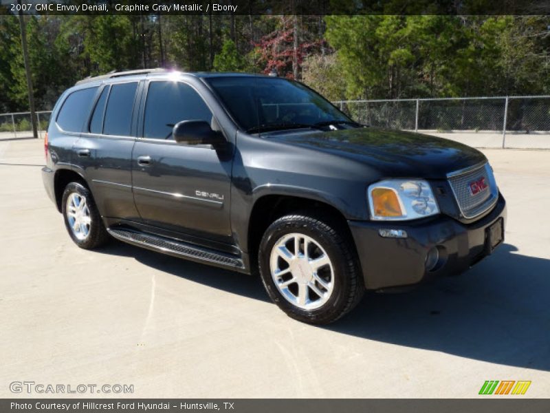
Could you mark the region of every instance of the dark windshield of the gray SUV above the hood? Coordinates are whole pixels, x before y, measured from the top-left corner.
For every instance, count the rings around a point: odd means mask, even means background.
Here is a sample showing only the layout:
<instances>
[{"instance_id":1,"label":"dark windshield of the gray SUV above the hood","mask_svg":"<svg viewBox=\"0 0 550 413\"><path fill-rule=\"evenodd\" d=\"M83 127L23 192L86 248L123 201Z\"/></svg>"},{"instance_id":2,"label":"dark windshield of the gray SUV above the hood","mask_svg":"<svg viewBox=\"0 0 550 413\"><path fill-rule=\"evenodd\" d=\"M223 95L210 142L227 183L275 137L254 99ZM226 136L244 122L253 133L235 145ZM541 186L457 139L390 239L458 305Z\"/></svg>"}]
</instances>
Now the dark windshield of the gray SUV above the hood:
<instances>
[{"instance_id":1,"label":"dark windshield of the gray SUV above the hood","mask_svg":"<svg viewBox=\"0 0 550 413\"><path fill-rule=\"evenodd\" d=\"M206 78L239 126L250 133L354 124L308 87L285 78L220 76Z\"/></svg>"}]
</instances>

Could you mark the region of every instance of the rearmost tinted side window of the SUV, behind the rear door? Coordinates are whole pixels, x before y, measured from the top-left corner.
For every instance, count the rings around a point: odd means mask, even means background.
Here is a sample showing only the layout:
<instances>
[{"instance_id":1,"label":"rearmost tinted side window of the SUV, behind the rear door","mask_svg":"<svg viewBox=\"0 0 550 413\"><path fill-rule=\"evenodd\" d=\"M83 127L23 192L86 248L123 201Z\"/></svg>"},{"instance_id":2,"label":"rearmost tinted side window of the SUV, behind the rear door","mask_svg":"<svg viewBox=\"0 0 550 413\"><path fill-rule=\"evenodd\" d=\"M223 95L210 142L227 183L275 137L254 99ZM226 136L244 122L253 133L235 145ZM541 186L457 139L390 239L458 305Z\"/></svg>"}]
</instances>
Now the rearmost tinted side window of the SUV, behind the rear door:
<instances>
[{"instance_id":1,"label":"rearmost tinted side window of the SUV, behind the rear door","mask_svg":"<svg viewBox=\"0 0 550 413\"><path fill-rule=\"evenodd\" d=\"M67 132L82 131L97 90L97 87L89 87L69 94L57 116L57 124L61 129Z\"/></svg>"}]
</instances>

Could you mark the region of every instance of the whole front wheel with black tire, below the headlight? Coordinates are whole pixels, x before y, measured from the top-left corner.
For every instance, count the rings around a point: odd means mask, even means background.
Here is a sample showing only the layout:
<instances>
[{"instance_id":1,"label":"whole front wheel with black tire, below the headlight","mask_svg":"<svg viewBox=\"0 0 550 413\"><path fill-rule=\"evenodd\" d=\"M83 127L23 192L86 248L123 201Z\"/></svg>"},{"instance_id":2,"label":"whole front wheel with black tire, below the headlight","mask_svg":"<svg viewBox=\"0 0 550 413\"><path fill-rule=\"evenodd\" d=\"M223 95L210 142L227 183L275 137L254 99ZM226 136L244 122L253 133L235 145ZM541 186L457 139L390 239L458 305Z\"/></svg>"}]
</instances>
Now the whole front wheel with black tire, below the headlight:
<instances>
[{"instance_id":1,"label":"whole front wheel with black tire, below the headlight","mask_svg":"<svg viewBox=\"0 0 550 413\"><path fill-rule=\"evenodd\" d=\"M259 270L270 298L289 317L329 324L349 313L364 293L349 237L329 219L285 215L267 228Z\"/></svg>"}]
</instances>

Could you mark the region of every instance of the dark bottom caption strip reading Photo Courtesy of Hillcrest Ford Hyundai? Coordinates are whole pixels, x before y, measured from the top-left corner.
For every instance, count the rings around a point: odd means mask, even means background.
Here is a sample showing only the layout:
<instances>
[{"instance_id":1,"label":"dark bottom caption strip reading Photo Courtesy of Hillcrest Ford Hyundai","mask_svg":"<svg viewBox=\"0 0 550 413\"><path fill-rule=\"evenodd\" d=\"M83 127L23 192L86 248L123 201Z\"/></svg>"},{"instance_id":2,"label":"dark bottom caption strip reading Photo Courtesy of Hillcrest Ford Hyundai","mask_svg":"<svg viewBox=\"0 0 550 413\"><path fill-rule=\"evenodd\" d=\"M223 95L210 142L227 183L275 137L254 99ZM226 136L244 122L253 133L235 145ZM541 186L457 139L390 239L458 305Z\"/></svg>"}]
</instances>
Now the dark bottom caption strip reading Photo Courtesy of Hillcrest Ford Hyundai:
<instances>
[{"instance_id":1,"label":"dark bottom caption strip reading Photo Courtesy of Hillcrest Ford Hyundai","mask_svg":"<svg viewBox=\"0 0 550 413\"><path fill-rule=\"evenodd\" d=\"M491 395L483 396L483 399L1 399L0 411L3 413L547 413L550 410L550 399L516 399L517 397L522 396ZM18 405L14 407L12 403L18 403ZM21 407L23 405L28 407ZM125 407L122 408L121 405ZM148 408L145 409L144 405Z\"/></svg>"}]
</instances>

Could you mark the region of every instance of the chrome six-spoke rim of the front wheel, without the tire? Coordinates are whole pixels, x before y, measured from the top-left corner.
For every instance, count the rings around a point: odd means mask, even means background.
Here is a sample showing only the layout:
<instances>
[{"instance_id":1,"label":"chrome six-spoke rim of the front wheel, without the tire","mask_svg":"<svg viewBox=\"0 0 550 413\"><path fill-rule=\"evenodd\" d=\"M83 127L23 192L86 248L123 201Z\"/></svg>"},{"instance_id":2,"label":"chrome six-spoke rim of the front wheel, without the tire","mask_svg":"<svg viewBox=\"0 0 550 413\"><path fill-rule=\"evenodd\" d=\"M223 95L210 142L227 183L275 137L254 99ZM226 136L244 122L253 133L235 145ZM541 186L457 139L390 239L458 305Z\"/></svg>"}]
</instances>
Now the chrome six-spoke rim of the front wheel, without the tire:
<instances>
[{"instance_id":1,"label":"chrome six-spoke rim of the front wheel, without the tire","mask_svg":"<svg viewBox=\"0 0 550 413\"><path fill-rule=\"evenodd\" d=\"M283 297L304 310L321 307L334 289L329 255L308 235L290 233L281 237L272 248L270 270Z\"/></svg>"}]
</instances>

